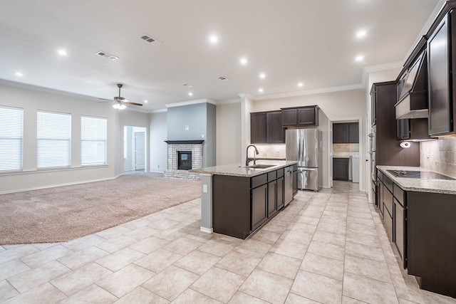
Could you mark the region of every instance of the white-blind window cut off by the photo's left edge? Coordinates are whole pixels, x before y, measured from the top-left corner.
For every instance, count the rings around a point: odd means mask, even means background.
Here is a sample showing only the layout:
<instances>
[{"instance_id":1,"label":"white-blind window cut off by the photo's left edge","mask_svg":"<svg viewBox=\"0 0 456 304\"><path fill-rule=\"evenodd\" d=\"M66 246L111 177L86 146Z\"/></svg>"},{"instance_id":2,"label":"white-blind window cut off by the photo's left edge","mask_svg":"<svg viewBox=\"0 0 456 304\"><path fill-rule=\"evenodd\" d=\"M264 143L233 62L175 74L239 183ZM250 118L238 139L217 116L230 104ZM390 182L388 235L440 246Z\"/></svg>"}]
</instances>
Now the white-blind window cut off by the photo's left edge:
<instances>
[{"instance_id":1,"label":"white-blind window cut off by the photo's left edge","mask_svg":"<svg viewBox=\"0 0 456 304\"><path fill-rule=\"evenodd\" d=\"M0 107L0 172L21 171L24 110Z\"/></svg>"}]
</instances>

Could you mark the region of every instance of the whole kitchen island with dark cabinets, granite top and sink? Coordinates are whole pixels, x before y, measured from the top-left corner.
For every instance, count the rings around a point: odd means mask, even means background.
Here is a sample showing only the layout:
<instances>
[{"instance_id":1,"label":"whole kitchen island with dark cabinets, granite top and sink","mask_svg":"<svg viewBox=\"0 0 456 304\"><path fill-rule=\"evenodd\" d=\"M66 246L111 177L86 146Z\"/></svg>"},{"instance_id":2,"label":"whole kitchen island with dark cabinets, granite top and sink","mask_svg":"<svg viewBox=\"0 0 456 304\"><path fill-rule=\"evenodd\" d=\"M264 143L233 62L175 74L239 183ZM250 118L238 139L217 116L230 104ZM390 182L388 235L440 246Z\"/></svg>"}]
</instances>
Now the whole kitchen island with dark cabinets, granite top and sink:
<instances>
[{"instance_id":1,"label":"whole kitchen island with dark cabinets, granite top and sink","mask_svg":"<svg viewBox=\"0 0 456 304\"><path fill-rule=\"evenodd\" d=\"M201 176L201 231L246 239L293 199L296 164L257 160L192 169Z\"/></svg>"}]
</instances>

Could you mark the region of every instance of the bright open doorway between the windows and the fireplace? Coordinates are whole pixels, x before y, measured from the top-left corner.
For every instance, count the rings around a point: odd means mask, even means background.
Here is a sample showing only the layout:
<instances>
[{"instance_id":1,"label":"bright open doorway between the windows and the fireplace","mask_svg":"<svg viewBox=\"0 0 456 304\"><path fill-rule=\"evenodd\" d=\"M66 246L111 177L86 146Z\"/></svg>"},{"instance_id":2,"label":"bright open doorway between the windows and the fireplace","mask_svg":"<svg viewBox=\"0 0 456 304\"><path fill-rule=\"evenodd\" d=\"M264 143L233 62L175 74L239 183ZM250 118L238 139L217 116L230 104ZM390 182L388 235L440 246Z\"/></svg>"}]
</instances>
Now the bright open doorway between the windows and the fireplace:
<instances>
[{"instance_id":1,"label":"bright open doorway between the windows and the fireplace","mask_svg":"<svg viewBox=\"0 0 456 304\"><path fill-rule=\"evenodd\" d=\"M123 129L124 172L146 170L146 128L125 126Z\"/></svg>"}]
</instances>

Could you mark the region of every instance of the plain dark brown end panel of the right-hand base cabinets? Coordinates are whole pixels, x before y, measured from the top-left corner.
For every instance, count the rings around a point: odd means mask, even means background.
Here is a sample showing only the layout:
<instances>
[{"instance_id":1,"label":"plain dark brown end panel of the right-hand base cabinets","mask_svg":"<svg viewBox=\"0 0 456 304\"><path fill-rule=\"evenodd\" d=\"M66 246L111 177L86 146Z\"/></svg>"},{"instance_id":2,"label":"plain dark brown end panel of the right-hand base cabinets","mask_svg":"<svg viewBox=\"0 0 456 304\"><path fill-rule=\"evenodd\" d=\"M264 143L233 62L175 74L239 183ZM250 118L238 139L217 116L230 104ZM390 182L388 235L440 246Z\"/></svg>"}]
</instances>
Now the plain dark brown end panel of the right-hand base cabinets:
<instances>
[{"instance_id":1,"label":"plain dark brown end panel of the right-hand base cabinets","mask_svg":"<svg viewBox=\"0 0 456 304\"><path fill-rule=\"evenodd\" d=\"M407 270L420 288L456 298L456 197L407 192Z\"/></svg>"}]
</instances>

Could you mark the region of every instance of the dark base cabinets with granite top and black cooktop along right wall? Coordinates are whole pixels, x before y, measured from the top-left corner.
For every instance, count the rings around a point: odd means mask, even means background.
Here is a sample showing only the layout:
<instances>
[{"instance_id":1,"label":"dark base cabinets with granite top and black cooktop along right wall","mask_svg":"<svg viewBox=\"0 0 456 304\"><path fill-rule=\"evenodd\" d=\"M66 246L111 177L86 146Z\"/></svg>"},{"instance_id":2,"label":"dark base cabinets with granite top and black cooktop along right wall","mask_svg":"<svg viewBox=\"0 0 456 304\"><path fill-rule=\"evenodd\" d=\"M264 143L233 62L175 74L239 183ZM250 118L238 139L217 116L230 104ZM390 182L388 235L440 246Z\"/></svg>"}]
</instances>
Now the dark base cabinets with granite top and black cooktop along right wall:
<instances>
[{"instance_id":1,"label":"dark base cabinets with granite top and black cooktop along right wall","mask_svg":"<svg viewBox=\"0 0 456 304\"><path fill-rule=\"evenodd\" d=\"M456 298L456 179L423 167L377 166L376 205L420 288Z\"/></svg>"}]
</instances>

